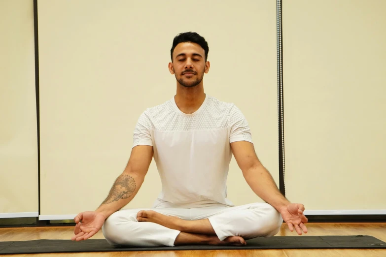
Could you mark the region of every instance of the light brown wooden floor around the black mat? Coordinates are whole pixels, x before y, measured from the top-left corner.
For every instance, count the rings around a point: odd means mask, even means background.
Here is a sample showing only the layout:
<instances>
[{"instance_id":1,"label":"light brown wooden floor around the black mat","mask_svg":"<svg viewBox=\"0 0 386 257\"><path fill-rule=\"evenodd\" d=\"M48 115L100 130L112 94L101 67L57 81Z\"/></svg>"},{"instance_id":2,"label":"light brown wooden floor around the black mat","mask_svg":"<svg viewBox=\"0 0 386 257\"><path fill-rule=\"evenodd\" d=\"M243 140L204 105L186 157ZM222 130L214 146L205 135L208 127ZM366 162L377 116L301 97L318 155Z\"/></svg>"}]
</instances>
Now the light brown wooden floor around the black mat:
<instances>
[{"instance_id":1,"label":"light brown wooden floor around the black mat","mask_svg":"<svg viewBox=\"0 0 386 257\"><path fill-rule=\"evenodd\" d=\"M386 242L386 223L309 223L312 235L371 235ZM0 228L0 241L23 241L36 239L70 239L73 227L23 227ZM277 236L295 236L287 225L281 226ZM104 238L99 231L92 238ZM92 239L88 239L92 240ZM5 256L5 255L1 255ZM109 252L109 253L75 253L75 254L35 254L7 255L8 257L386 257L386 249L331 249L331 250L216 250L216 251L147 251L147 252Z\"/></svg>"}]
</instances>

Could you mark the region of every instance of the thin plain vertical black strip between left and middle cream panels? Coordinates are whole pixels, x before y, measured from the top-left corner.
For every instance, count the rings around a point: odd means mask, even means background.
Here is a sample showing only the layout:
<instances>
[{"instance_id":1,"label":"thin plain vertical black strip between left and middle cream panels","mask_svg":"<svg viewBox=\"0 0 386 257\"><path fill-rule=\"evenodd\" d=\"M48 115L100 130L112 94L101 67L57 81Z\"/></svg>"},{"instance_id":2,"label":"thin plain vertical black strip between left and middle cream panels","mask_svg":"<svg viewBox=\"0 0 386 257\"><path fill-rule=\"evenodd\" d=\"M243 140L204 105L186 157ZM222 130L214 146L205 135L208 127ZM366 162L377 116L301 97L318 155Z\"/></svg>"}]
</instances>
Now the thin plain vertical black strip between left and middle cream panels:
<instances>
[{"instance_id":1,"label":"thin plain vertical black strip between left and middle cream panels","mask_svg":"<svg viewBox=\"0 0 386 257\"><path fill-rule=\"evenodd\" d=\"M38 33L37 33L37 0L34 0L34 35L35 35L35 91L36 91L36 121L37 121L37 185L38 185L38 215L40 215L40 115L39 115L40 108L39 108L39 45L38 45Z\"/></svg>"}]
</instances>

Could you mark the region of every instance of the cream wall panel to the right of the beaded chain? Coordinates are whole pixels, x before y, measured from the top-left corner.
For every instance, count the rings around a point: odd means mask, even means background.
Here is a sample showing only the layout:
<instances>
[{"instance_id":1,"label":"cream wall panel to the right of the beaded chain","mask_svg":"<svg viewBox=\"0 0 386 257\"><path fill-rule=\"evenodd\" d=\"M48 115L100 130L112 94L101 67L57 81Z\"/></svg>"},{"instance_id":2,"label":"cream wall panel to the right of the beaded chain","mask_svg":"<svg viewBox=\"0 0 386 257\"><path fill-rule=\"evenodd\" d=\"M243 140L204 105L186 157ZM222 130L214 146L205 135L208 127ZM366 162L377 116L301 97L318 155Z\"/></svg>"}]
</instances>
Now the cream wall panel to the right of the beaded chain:
<instances>
[{"instance_id":1,"label":"cream wall panel to the right of the beaded chain","mask_svg":"<svg viewBox=\"0 0 386 257\"><path fill-rule=\"evenodd\" d=\"M283 1L286 195L306 210L386 210L385 9Z\"/></svg>"}]
</instances>

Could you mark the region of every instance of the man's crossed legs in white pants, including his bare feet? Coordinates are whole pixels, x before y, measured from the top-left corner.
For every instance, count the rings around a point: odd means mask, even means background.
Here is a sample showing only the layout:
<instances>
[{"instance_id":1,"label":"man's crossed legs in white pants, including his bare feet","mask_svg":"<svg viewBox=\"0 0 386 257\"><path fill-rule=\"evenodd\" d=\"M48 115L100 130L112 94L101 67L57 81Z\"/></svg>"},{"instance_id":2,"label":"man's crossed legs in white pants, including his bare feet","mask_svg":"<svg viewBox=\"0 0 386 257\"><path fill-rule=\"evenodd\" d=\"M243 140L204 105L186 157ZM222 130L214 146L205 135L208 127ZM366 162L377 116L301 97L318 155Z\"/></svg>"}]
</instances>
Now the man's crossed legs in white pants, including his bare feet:
<instances>
[{"instance_id":1,"label":"man's crossed legs in white pants, including his bare feet","mask_svg":"<svg viewBox=\"0 0 386 257\"><path fill-rule=\"evenodd\" d=\"M275 235L281 224L280 213L271 205L253 203L229 208L120 210L105 221L102 230L106 240L117 246L245 245L247 239Z\"/></svg>"}]
</instances>

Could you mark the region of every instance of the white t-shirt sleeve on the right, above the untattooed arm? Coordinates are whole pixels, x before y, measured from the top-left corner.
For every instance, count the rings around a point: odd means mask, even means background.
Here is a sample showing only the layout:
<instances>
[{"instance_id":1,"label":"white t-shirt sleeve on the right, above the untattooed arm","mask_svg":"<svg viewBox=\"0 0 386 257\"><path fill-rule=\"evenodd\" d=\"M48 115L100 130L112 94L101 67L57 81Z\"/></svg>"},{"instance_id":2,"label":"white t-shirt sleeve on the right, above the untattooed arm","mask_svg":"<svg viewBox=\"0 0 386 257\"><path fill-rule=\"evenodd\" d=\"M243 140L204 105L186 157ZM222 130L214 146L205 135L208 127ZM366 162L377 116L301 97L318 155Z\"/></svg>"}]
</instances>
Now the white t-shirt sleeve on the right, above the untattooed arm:
<instances>
[{"instance_id":1,"label":"white t-shirt sleeve on the right, above the untattooed arm","mask_svg":"<svg viewBox=\"0 0 386 257\"><path fill-rule=\"evenodd\" d=\"M248 141L253 144L252 134L249 129L246 117L236 105L233 105L230 110L230 126L229 143L236 141Z\"/></svg>"}]
</instances>

